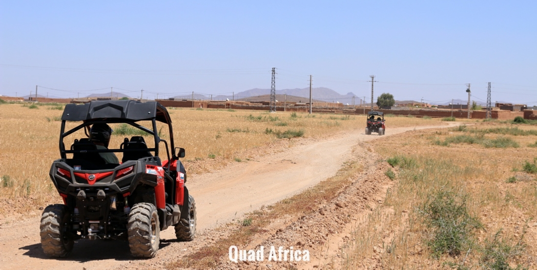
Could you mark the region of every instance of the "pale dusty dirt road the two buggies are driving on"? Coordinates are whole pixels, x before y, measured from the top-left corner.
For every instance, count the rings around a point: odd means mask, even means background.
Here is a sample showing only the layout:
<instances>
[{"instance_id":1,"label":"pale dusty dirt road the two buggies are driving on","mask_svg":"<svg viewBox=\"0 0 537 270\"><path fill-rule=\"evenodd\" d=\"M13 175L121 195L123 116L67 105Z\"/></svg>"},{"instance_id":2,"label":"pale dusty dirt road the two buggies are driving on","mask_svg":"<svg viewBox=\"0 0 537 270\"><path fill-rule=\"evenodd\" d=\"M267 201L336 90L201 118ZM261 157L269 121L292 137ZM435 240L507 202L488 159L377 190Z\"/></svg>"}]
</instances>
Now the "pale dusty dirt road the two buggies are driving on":
<instances>
[{"instance_id":1,"label":"pale dusty dirt road the two buggies are driving on","mask_svg":"<svg viewBox=\"0 0 537 270\"><path fill-rule=\"evenodd\" d=\"M386 136L430 127L433 126L388 128ZM360 129L338 133L328 139L293 139L289 141L289 147L281 147L271 154L257 153L248 161L188 178L187 186L198 210L197 233L204 235L219 224L263 205L273 204L335 175L353 146L359 141L376 138L380 136L365 135ZM41 250L38 214L22 221L2 222L0 268L158 267L163 261L175 261L185 251L204 245L196 239L190 243L175 242L173 229L169 228L161 232L161 249L154 259L132 260L127 242L88 240L77 241L68 258L51 259L45 257Z\"/></svg>"}]
</instances>

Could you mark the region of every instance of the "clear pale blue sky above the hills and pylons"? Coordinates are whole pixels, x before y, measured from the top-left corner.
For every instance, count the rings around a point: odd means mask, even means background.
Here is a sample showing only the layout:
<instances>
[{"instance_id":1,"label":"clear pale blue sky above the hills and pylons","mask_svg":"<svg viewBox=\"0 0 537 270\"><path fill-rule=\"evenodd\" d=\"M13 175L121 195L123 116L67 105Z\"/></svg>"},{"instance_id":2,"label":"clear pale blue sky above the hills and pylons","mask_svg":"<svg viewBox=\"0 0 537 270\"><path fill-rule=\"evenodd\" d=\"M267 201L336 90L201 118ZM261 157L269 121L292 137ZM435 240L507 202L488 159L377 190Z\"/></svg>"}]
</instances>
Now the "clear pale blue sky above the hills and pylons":
<instances>
[{"instance_id":1,"label":"clear pale blue sky above the hills and pylons","mask_svg":"<svg viewBox=\"0 0 537 270\"><path fill-rule=\"evenodd\" d=\"M537 1L5 1L0 94L328 87L537 105ZM52 89L48 89L52 88ZM104 88L104 89L103 89ZM53 89L59 89L53 90ZM100 89L100 90L99 90Z\"/></svg>"}]
</instances>

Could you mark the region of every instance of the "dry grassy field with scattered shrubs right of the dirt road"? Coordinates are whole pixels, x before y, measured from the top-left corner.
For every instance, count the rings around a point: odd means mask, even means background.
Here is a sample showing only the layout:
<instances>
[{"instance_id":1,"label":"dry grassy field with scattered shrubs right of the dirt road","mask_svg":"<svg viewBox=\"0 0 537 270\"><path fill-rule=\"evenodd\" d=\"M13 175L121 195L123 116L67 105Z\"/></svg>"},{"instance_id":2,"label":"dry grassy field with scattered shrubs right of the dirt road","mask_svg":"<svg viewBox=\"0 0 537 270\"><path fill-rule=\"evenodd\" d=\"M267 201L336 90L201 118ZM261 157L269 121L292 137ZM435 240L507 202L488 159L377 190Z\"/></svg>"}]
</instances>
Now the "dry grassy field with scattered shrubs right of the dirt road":
<instances>
[{"instance_id":1,"label":"dry grassy field with scattered shrubs right of the dirt road","mask_svg":"<svg viewBox=\"0 0 537 270\"><path fill-rule=\"evenodd\" d=\"M395 184L342 265L537 268L536 142L536 126L494 121L372 141Z\"/></svg>"}]
</instances>

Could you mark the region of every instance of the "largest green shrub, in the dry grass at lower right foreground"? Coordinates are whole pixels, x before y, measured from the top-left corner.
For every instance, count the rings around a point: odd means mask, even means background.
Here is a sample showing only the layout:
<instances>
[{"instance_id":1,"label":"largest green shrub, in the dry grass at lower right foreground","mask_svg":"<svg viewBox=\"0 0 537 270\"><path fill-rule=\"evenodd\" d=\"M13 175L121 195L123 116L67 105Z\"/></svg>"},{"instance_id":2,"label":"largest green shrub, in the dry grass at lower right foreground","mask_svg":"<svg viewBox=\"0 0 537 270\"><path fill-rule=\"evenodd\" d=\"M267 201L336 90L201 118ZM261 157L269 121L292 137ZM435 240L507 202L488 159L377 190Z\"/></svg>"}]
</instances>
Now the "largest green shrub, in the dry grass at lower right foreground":
<instances>
[{"instance_id":1,"label":"largest green shrub, in the dry grass at lower right foreground","mask_svg":"<svg viewBox=\"0 0 537 270\"><path fill-rule=\"evenodd\" d=\"M462 250L471 246L473 230L482 227L476 217L468 213L466 199L452 191L440 190L419 207L418 211L431 232L427 245L434 257L441 254L459 256Z\"/></svg>"}]
</instances>

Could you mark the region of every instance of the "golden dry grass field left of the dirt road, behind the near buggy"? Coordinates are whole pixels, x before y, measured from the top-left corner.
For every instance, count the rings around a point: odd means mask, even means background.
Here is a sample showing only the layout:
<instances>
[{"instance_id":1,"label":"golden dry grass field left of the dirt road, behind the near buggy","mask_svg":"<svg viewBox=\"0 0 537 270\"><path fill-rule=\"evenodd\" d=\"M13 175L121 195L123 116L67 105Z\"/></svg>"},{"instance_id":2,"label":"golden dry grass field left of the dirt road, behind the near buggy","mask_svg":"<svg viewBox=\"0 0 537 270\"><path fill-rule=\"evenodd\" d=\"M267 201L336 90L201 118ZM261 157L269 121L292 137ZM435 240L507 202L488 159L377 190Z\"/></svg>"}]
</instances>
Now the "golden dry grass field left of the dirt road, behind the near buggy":
<instances>
[{"instance_id":1,"label":"golden dry grass field left of the dirt road, behind the near buggy","mask_svg":"<svg viewBox=\"0 0 537 270\"><path fill-rule=\"evenodd\" d=\"M0 215L38 210L60 197L48 172L59 155L61 104L0 104ZM228 162L249 158L245 154L256 147L268 147L280 140L296 137L318 138L332 132L364 129L364 116L301 114L277 112L270 114L251 110L211 110L170 108L176 147L186 149L183 160L190 174L220 168ZM392 117L388 129L397 126L433 125L439 119ZM67 127L74 127L68 123ZM112 126L110 142L118 147L129 129ZM162 132L165 133L165 127ZM124 133L124 134L119 134ZM75 138L85 137L82 131ZM168 139L164 134L163 138ZM148 144L150 140L146 139ZM66 140L69 147L70 141ZM251 151L250 151L251 153ZM121 159L121 154L118 157ZM165 152L160 153L161 156Z\"/></svg>"}]
</instances>

